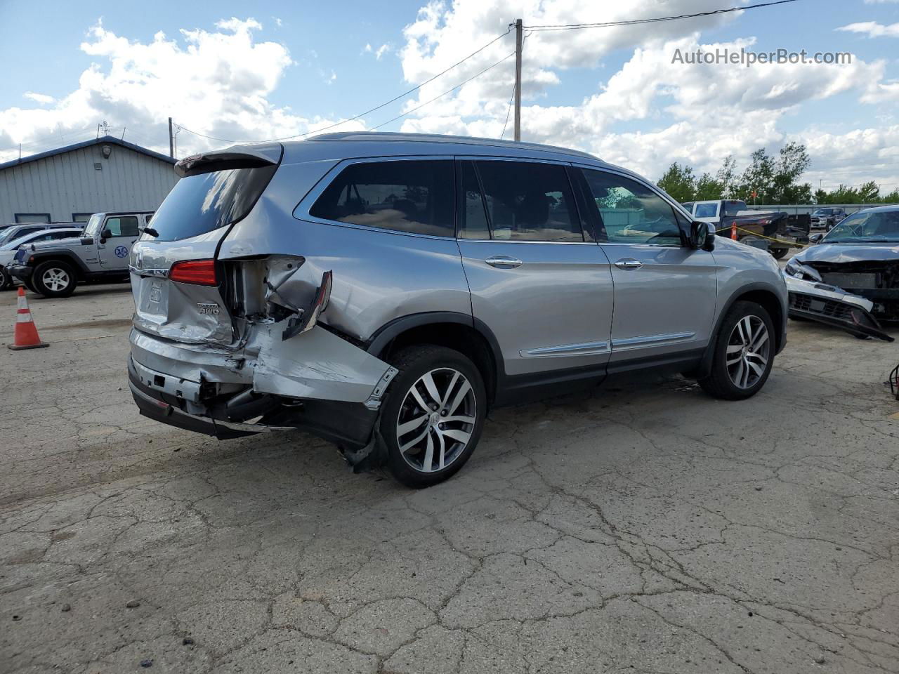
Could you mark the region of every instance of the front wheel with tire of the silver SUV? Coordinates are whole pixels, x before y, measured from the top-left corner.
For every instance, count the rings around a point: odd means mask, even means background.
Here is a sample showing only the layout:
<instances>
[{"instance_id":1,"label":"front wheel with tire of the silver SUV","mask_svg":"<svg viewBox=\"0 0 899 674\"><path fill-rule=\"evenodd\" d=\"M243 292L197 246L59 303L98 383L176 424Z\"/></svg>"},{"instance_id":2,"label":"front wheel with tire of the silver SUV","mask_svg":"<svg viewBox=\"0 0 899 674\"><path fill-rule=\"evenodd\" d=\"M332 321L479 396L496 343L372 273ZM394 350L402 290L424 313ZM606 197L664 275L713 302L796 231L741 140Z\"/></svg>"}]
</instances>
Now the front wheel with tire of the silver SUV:
<instances>
[{"instance_id":1,"label":"front wheel with tire of the silver SUV","mask_svg":"<svg viewBox=\"0 0 899 674\"><path fill-rule=\"evenodd\" d=\"M715 338L711 371L699 379L699 386L723 400L757 394L774 364L774 335L774 324L763 306L735 302Z\"/></svg>"}]
</instances>

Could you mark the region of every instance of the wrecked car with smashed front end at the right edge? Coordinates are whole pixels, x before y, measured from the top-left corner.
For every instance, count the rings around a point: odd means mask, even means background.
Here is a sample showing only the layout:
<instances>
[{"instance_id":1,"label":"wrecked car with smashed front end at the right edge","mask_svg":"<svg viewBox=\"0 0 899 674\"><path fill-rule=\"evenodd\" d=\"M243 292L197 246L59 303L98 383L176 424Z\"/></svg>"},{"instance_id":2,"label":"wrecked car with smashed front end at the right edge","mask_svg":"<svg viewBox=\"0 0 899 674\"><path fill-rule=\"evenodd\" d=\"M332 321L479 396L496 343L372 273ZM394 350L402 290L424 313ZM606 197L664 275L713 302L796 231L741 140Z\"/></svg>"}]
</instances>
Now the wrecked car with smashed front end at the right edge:
<instances>
[{"instance_id":1,"label":"wrecked car with smashed front end at the right edge","mask_svg":"<svg viewBox=\"0 0 899 674\"><path fill-rule=\"evenodd\" d=\"M881 323L899 321L899 207L846 217L795 255L784 275L790 316L893 341Z\"/></svg>"}]
</instances>

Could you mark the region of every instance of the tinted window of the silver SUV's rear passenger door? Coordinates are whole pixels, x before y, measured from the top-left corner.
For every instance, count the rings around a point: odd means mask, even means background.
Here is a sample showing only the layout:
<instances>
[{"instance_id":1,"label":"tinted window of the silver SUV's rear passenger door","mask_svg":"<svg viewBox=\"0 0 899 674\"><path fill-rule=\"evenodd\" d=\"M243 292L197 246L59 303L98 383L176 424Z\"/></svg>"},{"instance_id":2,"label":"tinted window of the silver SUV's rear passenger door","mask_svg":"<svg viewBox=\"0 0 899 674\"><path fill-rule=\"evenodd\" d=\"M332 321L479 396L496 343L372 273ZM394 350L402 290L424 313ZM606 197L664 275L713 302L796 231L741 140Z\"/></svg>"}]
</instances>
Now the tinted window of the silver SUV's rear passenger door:
<instances>
[{"instance_id":1,"label":"tinted window of the silver SUV's rear passenger door","mask_svg":"<svg viewBox=\"0 0 899 674\"><path fill-rule=\"evenodd\" d=\"M476 162L494 239L583 241L564 166Z\"/></svg>"}]
</instances>

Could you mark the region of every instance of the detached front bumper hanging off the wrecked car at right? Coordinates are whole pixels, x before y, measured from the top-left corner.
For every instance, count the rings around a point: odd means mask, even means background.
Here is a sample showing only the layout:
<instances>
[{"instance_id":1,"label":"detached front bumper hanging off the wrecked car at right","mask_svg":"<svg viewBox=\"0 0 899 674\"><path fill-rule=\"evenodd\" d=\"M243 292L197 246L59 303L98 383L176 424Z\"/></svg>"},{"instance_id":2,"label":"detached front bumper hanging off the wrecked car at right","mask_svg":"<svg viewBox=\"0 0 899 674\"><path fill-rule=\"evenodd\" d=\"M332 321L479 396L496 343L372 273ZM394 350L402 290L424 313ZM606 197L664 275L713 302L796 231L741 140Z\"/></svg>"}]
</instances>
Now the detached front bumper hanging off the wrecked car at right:
<instances>
[{"instance_id":1,"label":"detached front bumper hanging off the wrecked car at right","mask_svg":"<svg viewBox=\"0 0 899 674\"><path fill-rule=\"evenodd\" d=\"M860 337L893 341L871 314L874 303L842 288L826 283L797 279L784 274L789 293L788 312L794 318L806 318L841 328Z\"/></svg>"}]
</instances>

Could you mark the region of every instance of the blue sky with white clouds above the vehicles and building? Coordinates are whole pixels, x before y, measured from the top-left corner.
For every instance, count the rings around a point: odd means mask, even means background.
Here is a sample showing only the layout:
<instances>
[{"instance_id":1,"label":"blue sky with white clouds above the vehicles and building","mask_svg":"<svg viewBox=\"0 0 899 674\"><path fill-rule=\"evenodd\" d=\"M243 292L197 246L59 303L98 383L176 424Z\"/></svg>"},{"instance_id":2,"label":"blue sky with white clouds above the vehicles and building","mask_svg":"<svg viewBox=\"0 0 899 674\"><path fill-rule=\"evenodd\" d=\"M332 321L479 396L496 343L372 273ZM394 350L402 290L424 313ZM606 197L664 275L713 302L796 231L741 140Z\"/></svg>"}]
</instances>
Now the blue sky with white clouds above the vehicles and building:
<instances>
[{"instance_id":1,"label":"blue sky with white clouds above the vehicles and building","mask_svg":"<svg viewBox=\"0 0 899 674\"><path fill-rule=\"evenodd\" d=\"M0 0L0 161L110 133L178 154L321 129L394 98L507 31L704 12L753 0L100 3ZM52 17L52 20L49 20ZM696 49L850 52L843 65L688 65ZM714 17L528 31L522 137L653 180L806 143L815 187L899 186L899 0L798 0ZM511 137L512 34L336 130ZM476 75L456 91L441 93ZM10 64L16 67L10 67ZM426 103L426 104L424 104ZM393 120L408 112L404 117ZM393 120L393 121L391 121ZM387 122L385 124L385 122ZM381 126L383 125L383 126Z\"/></svg>"}]
</instances>

